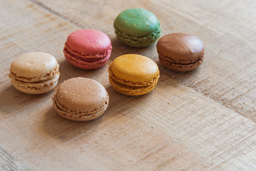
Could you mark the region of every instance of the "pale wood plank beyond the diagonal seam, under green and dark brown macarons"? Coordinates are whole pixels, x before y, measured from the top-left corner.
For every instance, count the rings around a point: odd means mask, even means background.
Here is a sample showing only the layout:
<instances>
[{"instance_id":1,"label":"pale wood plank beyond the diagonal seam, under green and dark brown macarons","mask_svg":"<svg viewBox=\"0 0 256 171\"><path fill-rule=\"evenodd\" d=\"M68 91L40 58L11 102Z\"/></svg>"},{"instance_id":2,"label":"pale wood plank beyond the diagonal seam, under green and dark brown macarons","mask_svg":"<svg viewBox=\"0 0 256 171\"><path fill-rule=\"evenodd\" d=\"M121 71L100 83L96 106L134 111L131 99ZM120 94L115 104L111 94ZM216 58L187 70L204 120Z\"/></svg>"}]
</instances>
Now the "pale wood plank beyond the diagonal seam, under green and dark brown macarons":
<instances>
[{"instance_id":1,"label":"pale wood plank beyond the diagonal seam, under green and dark brown macarons","mask_svg":"<svg viewBox=\"0 0 256 171\"><path fill-rule=\"evenodd\" d=\"M177 73L161 67L161 73L256 121L255 1L33 1L77 26L108 33L121 53L131 50L116 41L113 20L128 8L152 11L160 20L163 35L187 32L200 36L206 47L200 69ZM155 46L132 52L158 61Z\"/></svg>"}]
</instances>

